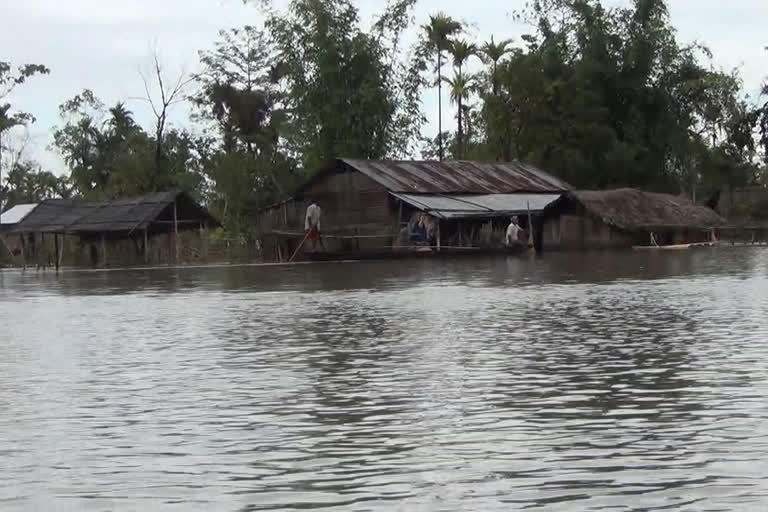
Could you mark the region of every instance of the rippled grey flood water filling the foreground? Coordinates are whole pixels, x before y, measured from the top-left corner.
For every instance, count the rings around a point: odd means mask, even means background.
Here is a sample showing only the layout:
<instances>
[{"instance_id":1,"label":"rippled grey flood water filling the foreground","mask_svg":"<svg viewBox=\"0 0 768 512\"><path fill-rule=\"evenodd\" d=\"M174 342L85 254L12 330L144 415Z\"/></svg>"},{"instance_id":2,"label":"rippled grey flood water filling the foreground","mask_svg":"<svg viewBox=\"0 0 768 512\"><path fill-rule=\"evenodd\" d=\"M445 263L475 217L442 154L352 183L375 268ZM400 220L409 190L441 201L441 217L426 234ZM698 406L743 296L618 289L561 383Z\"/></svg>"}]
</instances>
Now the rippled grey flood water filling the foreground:
<instances>
[{"instance_id":1,"label":"rippled grey flood water filling the foreground","mask_svg":"<svg viewBox=\"0 0 768 512\"><path fill-rule=\"evenodd\" d=\"M0 510L768 510L768 250L0 277Z\"/></svg>"}]
</instances>

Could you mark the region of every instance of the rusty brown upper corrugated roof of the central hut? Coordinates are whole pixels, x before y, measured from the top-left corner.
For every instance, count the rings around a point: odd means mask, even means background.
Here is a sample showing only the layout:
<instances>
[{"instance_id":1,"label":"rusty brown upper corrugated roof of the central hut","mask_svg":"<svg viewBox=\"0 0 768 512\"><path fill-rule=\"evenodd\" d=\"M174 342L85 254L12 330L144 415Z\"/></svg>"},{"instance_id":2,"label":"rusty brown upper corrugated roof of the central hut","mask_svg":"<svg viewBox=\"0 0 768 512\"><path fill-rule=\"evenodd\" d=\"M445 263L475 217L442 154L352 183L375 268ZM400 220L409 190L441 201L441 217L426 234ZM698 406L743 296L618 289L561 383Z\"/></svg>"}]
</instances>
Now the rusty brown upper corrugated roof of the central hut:
<instances>
[{"instance_id":1,"label":"rusty brown upper corrugated roof of the central hut","mask_svg":"<svg viewBox=\"0 0 768 512\"><path fill-rule=\"evenodd\" d=\"M355 160L341 162L390 192L420 194L508 194L565 192L571 187L522 162Z\"/></svg>"}]
</instances>

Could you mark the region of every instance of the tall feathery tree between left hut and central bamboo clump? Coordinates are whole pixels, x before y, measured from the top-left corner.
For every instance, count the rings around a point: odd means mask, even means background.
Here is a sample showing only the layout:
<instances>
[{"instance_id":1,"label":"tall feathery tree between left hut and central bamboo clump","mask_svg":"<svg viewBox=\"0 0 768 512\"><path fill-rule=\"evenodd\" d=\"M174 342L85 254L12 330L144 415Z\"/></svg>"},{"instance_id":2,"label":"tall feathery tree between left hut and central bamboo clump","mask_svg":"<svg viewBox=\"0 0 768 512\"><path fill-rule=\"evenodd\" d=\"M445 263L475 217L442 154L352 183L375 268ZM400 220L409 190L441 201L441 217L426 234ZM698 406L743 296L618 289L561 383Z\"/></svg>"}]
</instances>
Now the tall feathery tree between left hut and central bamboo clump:
<instances>
[{"instance_id":1,"label":"tall feathery tree between left hut and central bamboo clump","mask_svg":"<svg viewBox=\"0 0 768 512\"><path fill-rule=\"evenodd\" d=\"M233 232L247 231L259 207L279 200L297 182L296 163L284 154L284 93L269 36L245 26L220 33L200 52L197 117L213 123L203 165L209 202Z\"/></svg>"}]
</instances>

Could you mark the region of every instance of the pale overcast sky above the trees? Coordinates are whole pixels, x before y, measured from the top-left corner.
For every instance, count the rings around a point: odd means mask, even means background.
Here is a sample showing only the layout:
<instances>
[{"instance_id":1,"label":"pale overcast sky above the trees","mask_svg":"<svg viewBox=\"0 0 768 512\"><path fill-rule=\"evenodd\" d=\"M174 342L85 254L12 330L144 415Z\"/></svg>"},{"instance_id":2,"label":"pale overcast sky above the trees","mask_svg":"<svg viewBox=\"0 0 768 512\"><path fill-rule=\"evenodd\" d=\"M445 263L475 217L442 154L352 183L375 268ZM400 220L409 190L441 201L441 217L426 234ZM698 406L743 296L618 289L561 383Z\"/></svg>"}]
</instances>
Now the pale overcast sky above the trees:
<instances>
[{"instance_id":1,"label":"pale overcast sky above the trees","mask_svg":"<svg viewBox=\"0 0 768 512\"><path fill-rule=\"evenodd\" d=\"M284 0L282 0L284 2ZM622 4L629 0L609 0ZM280 2L278 2L280 3ZM358 0L368 25L384 0ZM428 14L444 10L475 27L479 41L491 34L513 37L528 27L512 22L510 11L525 0L420 0L418 23ZM699 40L714 53L714 65L738 67L746 89L756 93L768 75L768 19L766 0L669 0L672 23L681 41ZM146 69L152 48L157 47L169 74L195 71L197 51L210 47L220 29L259 24L261 16L240 0L0 0L0 60L14 64L43 63L51 74L19 89L14 104L33 113L38 121L31 130L31 154L56 170L63 164L47 150L51 128L59 123L58 105L83 88L92 89L106 104L128 100L141 122L150 120L141 96L139 70ZM425 95L424 107L436 132L436 94ZM185 122L185 109L174 115Z\"/></svg>"}]
</instances>

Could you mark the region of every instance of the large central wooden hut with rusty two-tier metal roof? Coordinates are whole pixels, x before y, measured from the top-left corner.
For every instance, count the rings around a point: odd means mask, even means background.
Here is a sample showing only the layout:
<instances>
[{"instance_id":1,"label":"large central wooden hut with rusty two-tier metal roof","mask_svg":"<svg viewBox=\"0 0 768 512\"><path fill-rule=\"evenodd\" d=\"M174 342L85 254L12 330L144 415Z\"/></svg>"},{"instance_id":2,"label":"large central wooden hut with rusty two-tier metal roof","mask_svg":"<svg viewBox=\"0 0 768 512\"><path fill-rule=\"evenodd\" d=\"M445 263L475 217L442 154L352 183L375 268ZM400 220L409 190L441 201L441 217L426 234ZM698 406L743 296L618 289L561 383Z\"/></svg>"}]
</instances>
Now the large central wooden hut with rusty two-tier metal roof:
<instances>
[{"instance_id":1,"label":"large central wooden hut with rusty two-tier metal roof","mask_svg":"<svg viewBox=\"0 0 768 512\"><path fill-rule=\"evenodd\" d=\"M487 248L502 244L511 216L527 224L529 212L540 213L570 188L522 162L338 158L291 199L262 211L259 229L266 259L290 259L302 244L306 209L316 203L323 212L326 255L392 254L408 244L420 214L435 226L433 249Z\"/></svg>"}]
</instances>

